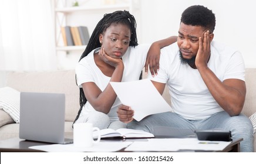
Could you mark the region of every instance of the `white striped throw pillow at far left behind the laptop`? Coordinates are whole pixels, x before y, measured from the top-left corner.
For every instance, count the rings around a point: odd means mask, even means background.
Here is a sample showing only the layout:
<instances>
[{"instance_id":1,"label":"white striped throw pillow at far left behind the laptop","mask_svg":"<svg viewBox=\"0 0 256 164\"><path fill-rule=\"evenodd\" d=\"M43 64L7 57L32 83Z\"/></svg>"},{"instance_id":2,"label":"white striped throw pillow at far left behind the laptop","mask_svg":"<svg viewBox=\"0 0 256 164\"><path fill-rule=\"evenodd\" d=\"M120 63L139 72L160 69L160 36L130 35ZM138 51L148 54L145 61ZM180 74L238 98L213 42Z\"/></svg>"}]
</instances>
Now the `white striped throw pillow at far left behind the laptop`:
<instances>
[{"instance_id":1,"label":"white striped throw pillow at far left behind the laptop","mask_svg":"<svg viewBox=\"0 0 256 164\"><path fill-rule=\"evenodd\" d=\"M0 107L19 123L20 93L11 87L0 88Z\"/></svg>"}]
</instances>

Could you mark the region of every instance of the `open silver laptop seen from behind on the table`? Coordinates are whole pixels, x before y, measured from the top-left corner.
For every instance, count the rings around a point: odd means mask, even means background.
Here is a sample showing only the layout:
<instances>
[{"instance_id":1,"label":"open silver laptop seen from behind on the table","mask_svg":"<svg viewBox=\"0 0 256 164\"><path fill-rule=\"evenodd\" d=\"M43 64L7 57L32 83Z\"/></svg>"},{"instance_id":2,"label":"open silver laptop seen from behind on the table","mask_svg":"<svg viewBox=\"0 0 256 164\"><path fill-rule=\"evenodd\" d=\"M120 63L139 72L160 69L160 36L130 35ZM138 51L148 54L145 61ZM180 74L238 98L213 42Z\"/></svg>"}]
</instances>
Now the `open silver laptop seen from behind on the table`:
<instances>
[{"instance_id":1,"label":"open silver laptop seen from behind on the table","mask_svg":"<svg viewBox=\"0 0 256 164\"><path fill-rule=\"evenodd\" d=\"M65 138L65 94L21 93L19 138L72 143Z\"/></svg>"}]
</instances>

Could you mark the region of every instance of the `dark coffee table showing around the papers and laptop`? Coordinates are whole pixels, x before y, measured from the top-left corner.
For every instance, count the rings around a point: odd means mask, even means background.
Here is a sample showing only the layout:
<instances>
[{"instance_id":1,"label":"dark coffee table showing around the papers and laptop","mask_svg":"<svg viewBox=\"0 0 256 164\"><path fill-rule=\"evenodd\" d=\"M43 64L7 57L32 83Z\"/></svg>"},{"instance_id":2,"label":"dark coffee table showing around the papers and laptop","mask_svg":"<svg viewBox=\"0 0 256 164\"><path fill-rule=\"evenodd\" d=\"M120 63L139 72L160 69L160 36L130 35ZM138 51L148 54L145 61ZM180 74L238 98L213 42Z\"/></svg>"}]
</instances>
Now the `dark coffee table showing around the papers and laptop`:
<instances>
[{"instance_id":1,"label":"dark coffee table showing around the papers and laptop","mask_svg":"<svg viewBox=\"0 0 256 164\"><path fill-rule=\"evenodd\" d=\"M129 141L129 139L127 139ZM136 141L136 139L133 139ZM217 152L240 152L240 142L242 138L235 138L223 151ZM125 141L124 141L125 142ZM29 149L30 146L49 145L50 143L27 141L19 138L11 138L0 141L0 152L42 152L36 149ZM191 150L190 150L191 151ZM119 152L125 152L121 149ZM187 150L181 150L179 152L187 152ZM194 152L216 152L216 151L194 151Z\"/></svg>"}]
</instances>

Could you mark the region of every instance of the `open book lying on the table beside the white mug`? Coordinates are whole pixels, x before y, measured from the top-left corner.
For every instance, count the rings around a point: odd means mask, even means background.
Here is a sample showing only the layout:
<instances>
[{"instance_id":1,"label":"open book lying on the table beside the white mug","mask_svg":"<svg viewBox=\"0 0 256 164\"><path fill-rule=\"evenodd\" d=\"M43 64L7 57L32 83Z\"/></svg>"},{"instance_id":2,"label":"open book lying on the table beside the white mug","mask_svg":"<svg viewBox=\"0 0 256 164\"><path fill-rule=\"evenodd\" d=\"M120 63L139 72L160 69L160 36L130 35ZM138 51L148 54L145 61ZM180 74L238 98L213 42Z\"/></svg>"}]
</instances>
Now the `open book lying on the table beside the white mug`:
<instances>
[{"instance_id":1,"label":"open book lying on the table beside the white mug","mask_svg":"<svg viewBox=\"0 0 256 164\"><path fill-rule=\"evenodd\" d=\"M93 138L97 138L97 132L93 132ZM114 129L101 129L101 138L154 138L154 135L150 132L137 130L137 129L127 129L120 128Z\"/></svg>"}]
</instances>

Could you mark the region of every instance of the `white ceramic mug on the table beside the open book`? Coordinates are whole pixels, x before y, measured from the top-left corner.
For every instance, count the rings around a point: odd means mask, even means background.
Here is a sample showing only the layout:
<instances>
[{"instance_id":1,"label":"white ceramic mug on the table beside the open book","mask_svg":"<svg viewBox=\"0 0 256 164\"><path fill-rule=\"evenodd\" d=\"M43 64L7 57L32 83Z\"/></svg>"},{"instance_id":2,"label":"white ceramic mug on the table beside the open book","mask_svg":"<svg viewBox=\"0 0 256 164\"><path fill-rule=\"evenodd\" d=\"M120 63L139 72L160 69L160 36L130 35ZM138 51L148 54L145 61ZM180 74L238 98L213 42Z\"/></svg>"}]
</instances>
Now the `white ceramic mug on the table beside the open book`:
<instances>
[{"instance_id":1,"label":"white ceramic mug on the table beside the open book","mask_svg":"<svg viewBox=\"0 0 256 164\"><path fill-rule=\"evenodd\" d=\"M93 139L93 131L98 132L98 138ZM73 125L73 143L76 147L89 148L93 143L100 141L100 129L93 127L92 123L76 123Z\"/></svg>"}]
</instances>

